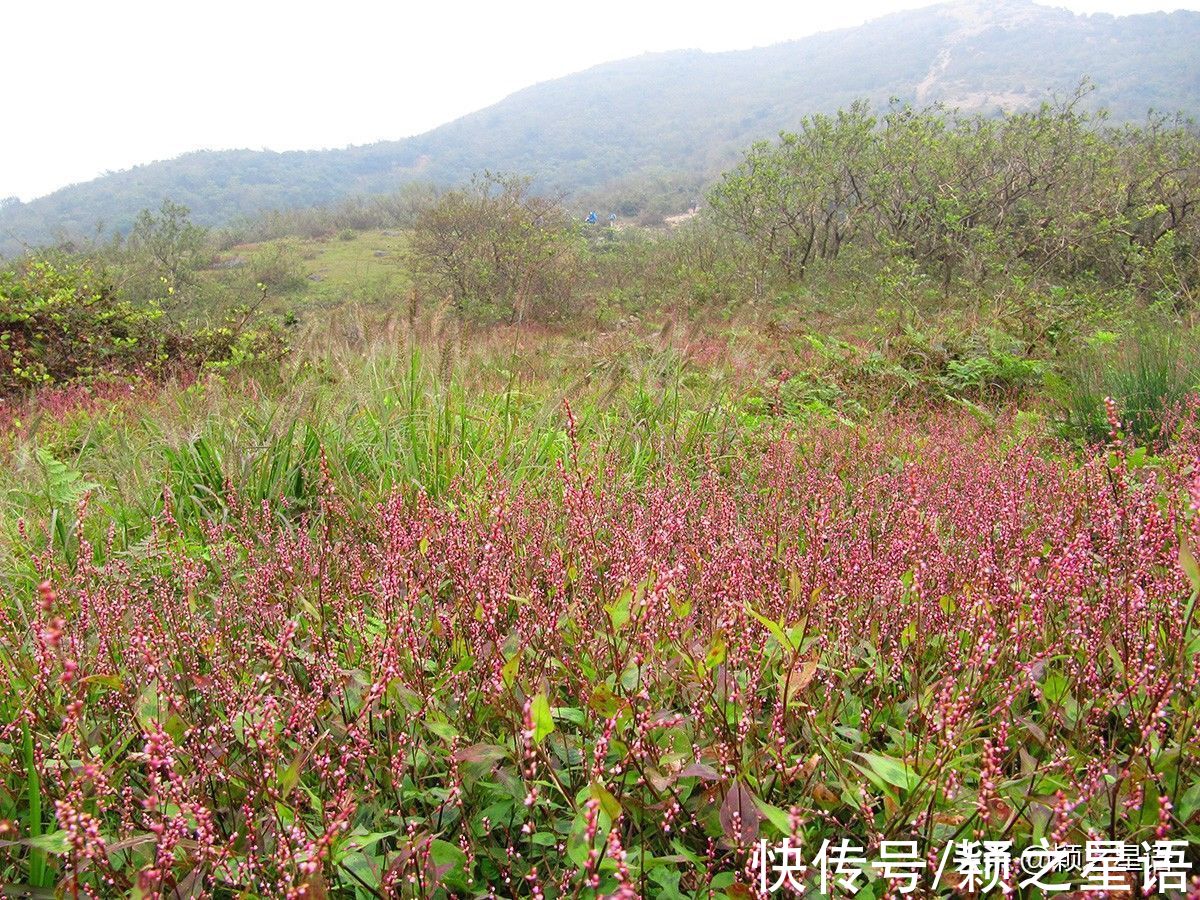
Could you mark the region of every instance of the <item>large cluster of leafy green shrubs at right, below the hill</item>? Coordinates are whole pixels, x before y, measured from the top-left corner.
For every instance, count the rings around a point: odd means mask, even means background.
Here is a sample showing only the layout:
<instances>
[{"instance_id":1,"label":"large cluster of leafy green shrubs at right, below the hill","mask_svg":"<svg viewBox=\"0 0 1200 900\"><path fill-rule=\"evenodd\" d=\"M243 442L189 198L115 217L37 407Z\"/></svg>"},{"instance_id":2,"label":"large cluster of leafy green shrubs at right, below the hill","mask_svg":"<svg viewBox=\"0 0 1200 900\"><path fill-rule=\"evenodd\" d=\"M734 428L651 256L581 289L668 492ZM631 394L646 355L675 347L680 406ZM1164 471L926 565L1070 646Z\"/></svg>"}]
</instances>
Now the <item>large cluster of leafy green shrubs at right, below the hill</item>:
<instances>
[{"instance_id":1,"label":"large cluster of leafy green shrubs at right, below the hill","mask_svg":"<svg viewBox=\"0 0 1200 900\"><path fill-rule=\"evenodd\" d=\"M851 244L941 284L1094 278L1141 296L1200 286L1200 134L1115 128L1060 106L1004 118L856 103L761 142L709 196L716 223L784 282Z\"/></svg>"}]
</instances>

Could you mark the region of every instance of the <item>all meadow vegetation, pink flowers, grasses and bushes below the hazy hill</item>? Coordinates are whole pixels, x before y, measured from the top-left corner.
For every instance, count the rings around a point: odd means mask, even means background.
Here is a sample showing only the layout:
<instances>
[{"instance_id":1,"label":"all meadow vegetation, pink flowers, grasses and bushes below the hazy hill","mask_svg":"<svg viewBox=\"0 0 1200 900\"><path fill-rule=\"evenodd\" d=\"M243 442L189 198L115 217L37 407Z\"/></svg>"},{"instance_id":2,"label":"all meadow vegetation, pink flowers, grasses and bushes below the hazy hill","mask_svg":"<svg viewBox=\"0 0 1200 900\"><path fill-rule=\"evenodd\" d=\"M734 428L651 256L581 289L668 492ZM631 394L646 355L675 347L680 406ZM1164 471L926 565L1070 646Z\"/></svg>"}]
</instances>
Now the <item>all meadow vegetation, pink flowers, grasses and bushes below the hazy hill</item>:
<instances>
[{"instance_id":1,"label":"all meadow vegetation, pink flowers, grasses and bushes below the hazy hill","mask_svg":"<svg viewBox=\"0 0 1200 900\"><path fill-rule=\"evenodd\" d=\"M1072 103L856 106L673 229L486 174L240 235L166 202L19 262L0 884L745 898L784 838L1193 859L1195 154Z\"/></svg>"}]
</instances>

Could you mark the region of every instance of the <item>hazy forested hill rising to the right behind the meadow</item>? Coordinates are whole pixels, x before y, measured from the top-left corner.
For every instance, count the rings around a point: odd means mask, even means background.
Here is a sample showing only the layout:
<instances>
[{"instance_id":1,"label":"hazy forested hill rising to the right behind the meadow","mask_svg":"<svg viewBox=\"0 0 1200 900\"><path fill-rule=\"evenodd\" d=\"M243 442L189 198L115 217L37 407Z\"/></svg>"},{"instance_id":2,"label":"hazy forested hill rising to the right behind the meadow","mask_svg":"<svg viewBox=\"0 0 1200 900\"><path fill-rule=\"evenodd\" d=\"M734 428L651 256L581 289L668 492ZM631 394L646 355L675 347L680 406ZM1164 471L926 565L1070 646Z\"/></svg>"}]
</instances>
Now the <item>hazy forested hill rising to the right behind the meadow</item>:
<instances>
[{"instance_id":1,"label":"hazy forested hill rising to the right behind the meadow","mask_svg":"<svg viewBox=\"0 0 1200 900\"><path fill-rule=\"evenodd\" d=\"M1027 0L965 0L732 53L680 50L534 85L404 140L342 150L202 151L0 205L0 254L125 230L164 197L215 224L269 208L456 182L482 169L576 191L662 172L708 176L751 140L866 98L1020 109L1068 95L1114 119L1200 112L1200 13L1075 16Z\"/></svg>"}]
</instances>

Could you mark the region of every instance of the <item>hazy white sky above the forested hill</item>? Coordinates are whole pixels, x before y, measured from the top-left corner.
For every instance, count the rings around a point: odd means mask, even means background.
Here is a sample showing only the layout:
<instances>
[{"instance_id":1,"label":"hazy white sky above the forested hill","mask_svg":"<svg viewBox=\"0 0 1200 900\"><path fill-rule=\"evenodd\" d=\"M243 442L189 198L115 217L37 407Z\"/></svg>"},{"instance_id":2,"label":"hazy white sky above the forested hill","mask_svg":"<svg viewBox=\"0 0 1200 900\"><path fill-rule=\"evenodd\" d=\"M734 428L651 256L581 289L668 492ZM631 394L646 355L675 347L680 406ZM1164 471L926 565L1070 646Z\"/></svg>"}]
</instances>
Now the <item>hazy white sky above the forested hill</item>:
<instances>
[{"instance_id":1,"label":"hazy white sky above the forested hill","mask_svg":"<svg viewBox=\"0 0 1200 900\"><path fill-rule=\"evenodd\" d=\"M923 5L7 0L0 197L28 200L202 148L401 138L598 62L778 43ZM1200 0L1048 5L1123 14Z\"/></svg>"}]
</instances>

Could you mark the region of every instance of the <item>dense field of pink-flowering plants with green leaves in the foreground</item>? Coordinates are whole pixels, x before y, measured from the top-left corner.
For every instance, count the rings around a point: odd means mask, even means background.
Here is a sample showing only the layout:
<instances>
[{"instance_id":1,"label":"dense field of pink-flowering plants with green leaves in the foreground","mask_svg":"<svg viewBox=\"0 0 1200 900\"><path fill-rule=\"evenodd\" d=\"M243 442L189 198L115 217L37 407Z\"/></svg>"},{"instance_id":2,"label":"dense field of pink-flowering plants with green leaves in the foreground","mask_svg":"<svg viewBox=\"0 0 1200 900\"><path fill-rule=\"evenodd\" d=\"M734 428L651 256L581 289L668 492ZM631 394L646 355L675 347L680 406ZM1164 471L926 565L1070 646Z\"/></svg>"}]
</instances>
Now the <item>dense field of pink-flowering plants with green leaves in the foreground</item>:
<instances>
[{"instance_id":1,"label":"dense field of pink-flowering plants with green leaves in the foreground","mask_svg":"<svg viewBox=\"0 0 1200 900\"><path fill-rule=\"evenodd\" d=\"M95 898L751 896L760 840L913 841L930 875L952 841L1189 840L1184 433L1073 458L896 416L358 515L326 476L199 536L168 497L136 556L84 538L11 588L0 871Z\"/></svg>"}]
</instances>

